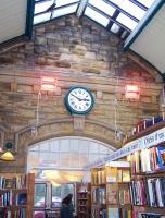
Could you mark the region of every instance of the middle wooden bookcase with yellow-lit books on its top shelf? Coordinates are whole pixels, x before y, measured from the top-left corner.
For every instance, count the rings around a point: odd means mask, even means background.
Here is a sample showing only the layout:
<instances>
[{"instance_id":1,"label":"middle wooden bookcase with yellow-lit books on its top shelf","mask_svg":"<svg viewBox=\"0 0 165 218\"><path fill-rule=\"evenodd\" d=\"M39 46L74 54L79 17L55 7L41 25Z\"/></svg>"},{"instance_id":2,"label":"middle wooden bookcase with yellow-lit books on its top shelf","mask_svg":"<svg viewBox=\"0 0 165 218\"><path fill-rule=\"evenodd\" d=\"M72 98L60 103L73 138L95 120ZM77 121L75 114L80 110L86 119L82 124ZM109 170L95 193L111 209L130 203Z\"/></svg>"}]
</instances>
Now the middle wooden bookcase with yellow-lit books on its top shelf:
<instances>
[{"instance_id":1,"label":"middle wooden bookcase with yellow-lit books on its top shelf","mask_svg":"<svg viewBox=\"0 0 165 218\"><path fill-rule=\"evenodd\" d=\"M129 162L113 161L91 169L92 218L131 218Z\"/></svg>"}]
</instances>

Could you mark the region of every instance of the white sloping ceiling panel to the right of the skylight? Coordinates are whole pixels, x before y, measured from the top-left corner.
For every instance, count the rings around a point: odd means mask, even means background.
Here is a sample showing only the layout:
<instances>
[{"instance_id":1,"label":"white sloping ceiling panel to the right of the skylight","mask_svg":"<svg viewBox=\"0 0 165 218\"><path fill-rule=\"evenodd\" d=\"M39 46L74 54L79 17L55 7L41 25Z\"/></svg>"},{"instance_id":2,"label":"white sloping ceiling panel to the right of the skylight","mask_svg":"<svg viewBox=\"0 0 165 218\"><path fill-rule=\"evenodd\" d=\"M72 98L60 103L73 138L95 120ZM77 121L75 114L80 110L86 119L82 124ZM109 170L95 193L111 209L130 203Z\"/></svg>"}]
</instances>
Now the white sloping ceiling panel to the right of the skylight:
<instances>
[{"instance_id":1,"label":"white sloping ceiling panel to the right of the skylight","mask_svg":"<svg viewBox=\"0 0 165 218\"><path fill-rule=\"evenodd\" d=\"M131 37L132 35L127 38L126 44ZM165 73L165 3L129 48L148 60L162 74Z\"/></svg>"}]
</instances>

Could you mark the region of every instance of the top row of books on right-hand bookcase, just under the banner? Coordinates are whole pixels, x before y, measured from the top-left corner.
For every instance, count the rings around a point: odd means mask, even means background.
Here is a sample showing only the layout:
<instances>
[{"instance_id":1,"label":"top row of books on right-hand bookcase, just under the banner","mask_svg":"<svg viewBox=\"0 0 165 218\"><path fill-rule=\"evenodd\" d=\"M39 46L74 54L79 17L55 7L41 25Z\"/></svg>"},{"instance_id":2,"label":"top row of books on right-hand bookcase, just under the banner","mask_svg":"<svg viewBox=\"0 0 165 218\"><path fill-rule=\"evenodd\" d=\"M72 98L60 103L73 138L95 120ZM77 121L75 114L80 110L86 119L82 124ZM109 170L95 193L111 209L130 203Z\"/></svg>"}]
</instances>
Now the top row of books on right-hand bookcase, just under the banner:
<instances>
[{"instance_id":1,"label":"top row of books on right-hand bookcase, just under the banner","mask_svg":"<svg viewBox=\"0 0 165 218\"><path fill-rule=\"evenodd\" d=\"M130 156L131 173L165 169L165 146L135 152Z\"/></svg>"}]
</instances>

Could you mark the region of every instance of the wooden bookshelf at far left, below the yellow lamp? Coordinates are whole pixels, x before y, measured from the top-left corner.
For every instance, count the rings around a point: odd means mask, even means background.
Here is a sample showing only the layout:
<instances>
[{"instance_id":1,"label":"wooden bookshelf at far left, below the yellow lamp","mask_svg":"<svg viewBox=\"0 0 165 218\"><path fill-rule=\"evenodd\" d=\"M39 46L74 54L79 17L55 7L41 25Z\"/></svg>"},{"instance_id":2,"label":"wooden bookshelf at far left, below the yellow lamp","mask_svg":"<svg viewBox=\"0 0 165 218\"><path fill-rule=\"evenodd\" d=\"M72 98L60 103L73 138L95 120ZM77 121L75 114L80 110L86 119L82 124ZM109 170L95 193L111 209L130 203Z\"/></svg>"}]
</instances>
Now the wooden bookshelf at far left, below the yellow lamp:
<instances>
[{"instance_id":1,"label":"wooden bookshelf at far left, below the yellow lamp","mask_svg":"<svg viewBox=\"0 0 165 218\"><path fill-rule=\"evenodd\" d=\"M31 218L35 175L0 174L0 217Z\"/></svg>"}]
</instances>

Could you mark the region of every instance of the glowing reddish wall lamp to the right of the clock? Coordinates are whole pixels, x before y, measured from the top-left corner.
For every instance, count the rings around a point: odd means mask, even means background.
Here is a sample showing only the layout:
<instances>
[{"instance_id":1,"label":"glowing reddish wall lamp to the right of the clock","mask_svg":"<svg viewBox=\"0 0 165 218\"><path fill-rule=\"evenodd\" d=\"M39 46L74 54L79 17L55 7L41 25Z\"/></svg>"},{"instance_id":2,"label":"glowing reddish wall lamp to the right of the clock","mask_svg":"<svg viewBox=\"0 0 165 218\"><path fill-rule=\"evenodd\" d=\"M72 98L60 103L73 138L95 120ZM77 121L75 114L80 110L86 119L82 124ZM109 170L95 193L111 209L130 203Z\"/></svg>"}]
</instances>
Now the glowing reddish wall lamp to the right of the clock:
<instances>
[{"instance_id":1,"label":"glowing reddish wall lamp to the right of the clock","mask_svg":"<svg viewBox=\"0 0 165 218\"><path fill-rule=\"evenodd\" d=\"M126 85L125 92L126 98L139 99L140 88L138 85Z\"/></svg>"}]
</instances>

